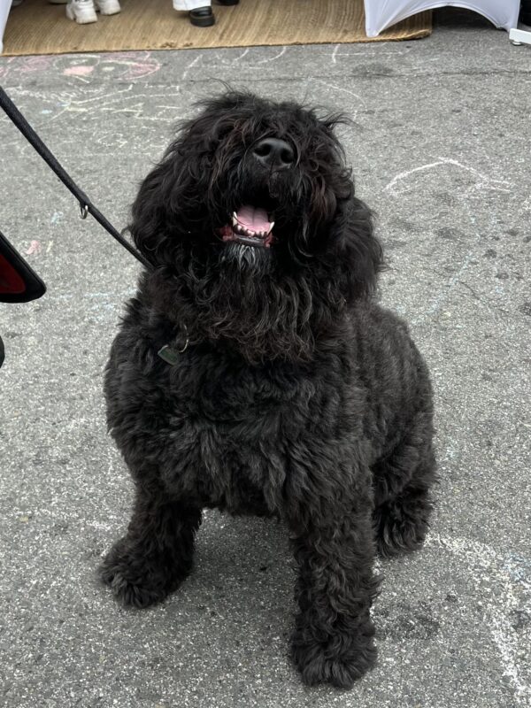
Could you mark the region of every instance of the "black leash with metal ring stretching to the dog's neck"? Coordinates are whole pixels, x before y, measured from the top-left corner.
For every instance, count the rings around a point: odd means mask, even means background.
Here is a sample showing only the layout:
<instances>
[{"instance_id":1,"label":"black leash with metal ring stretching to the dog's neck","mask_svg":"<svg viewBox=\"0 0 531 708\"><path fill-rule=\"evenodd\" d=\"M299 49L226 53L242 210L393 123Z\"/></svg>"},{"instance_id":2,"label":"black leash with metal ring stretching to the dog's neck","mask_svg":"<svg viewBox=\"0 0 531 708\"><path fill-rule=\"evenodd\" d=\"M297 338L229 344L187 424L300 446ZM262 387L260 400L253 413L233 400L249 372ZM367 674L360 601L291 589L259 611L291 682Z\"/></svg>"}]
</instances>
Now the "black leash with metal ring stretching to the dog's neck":
<instances>
[{"instance_id":1,"label":"black leash with metal ring stretching to the dog's neck","mask_svg":"<svg viewBox=\"0 0 531 708\"><path fill-rule=\"evenodd\" d=\"M27 142L29 142L32 147L35 148L35 150L39 153L44 162L53 170L54 173L57 174L59 180L63 182L66 189L69 189L72 192L73 196L75 196L75 198L78 200L81 209L81 219L86 219L88 214L93 216L94 219L96 219L96 221L98 222L98 224L101 224L101 226L104 227L104 229L112 235L112 238L116 239L116 241L121 243L121 245L125 249L127 249L129 253L131 253L131 255L135 256L135 258L142 263L142 266L145 266L149 270L152 270L153 266L150 261L147 258L144 258L142 256L142 253L140 253L134 248L134 246L132 246L129 242L126 241L126 239L119 233L119 231L117 231L112 226L112 223L108 219L105 219L102 212L96 209L96 206L92 204L91 200L89 199L89 196L87 196L85 192L83 192L77 186L77 184L73 181L72 177L66 172L65 168L59 164L58 159L42 142L39 135L35 133L33 127L29 125L27 119L25 119L22 113L19 112L17 106L13 104L11 98L5 93L4 89L1 86L0 108L4 110L7 117L10 118L15 124L15 126L19 128L20 133L22 133L22 135L24 135L24 137L27 139Z\"/></svg>"}]
</instances>

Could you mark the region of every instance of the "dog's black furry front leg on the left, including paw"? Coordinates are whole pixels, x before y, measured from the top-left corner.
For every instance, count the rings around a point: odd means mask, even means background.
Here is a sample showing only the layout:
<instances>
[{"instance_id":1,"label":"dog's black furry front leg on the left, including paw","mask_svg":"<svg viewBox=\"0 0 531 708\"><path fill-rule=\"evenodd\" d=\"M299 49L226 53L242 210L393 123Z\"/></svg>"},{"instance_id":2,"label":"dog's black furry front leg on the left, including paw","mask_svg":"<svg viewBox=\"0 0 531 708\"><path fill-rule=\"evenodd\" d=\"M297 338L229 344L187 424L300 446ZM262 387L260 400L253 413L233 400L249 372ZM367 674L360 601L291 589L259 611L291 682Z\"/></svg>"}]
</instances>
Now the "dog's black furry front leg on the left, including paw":
<instances>
[{"instance_id":1,"label":"dog's black furry front leg on the left, including paw","mask_svg":"<svg viewBox=\"0 0 531 708\"><path fill-rule=\"evenodd\" d=\"M189 574L200 523L196 505L138 485L127 535L100 566L102 580L122 604L147 607L160 602Z\"/></svg>"}]
</instances>

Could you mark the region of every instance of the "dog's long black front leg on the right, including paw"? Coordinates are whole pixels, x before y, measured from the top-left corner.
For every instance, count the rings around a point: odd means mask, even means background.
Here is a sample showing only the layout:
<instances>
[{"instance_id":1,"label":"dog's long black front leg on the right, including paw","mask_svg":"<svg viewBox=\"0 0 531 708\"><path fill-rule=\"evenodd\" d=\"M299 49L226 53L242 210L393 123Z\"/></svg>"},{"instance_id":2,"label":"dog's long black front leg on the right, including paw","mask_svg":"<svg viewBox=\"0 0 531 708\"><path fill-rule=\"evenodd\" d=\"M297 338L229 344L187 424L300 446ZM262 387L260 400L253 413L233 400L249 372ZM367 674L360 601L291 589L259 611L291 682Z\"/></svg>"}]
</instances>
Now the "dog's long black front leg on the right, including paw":
<instances>
[{"instance_id":1,"label":"dog's long black front leg on the right, including paw","mask_svg":"<svg viewBox=\"0 0 531 708\"><path fill-rule=\"evenodd\" d=\"M349 689L376 658L369 614L378 587L371 504L368 495L344 498L344 489L335 499L314 492L302 493L289 521L300 608L292 656L305 683Z\"/></svg>"}]
</instances>

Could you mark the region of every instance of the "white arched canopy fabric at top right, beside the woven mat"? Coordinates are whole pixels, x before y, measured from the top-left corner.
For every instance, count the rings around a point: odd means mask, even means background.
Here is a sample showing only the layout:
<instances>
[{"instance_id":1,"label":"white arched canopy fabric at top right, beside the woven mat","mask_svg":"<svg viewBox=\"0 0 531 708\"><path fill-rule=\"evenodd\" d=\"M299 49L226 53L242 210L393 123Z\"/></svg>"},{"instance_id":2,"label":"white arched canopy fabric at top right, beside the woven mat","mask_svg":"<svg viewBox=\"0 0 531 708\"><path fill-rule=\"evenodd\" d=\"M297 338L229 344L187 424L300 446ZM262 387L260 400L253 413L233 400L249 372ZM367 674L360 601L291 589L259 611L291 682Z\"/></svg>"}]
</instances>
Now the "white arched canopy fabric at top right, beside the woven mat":
<instances>
[{"instance_id":1,"label":"white arched canopy fabric at top right, beside the woven mat","mask_svg":"<svg viewBox=\"0 0 531 708\"><path fill-rule=\"evenodd\" d=\"M436 7L464 7L479 12L507 32L518 27L519 0L365 0L366 35L376 37L401 19Z\"/></svg>"}]
</instances>

